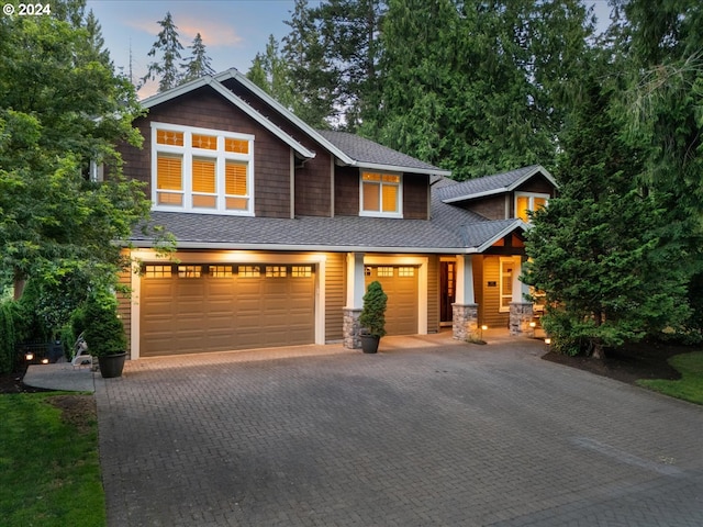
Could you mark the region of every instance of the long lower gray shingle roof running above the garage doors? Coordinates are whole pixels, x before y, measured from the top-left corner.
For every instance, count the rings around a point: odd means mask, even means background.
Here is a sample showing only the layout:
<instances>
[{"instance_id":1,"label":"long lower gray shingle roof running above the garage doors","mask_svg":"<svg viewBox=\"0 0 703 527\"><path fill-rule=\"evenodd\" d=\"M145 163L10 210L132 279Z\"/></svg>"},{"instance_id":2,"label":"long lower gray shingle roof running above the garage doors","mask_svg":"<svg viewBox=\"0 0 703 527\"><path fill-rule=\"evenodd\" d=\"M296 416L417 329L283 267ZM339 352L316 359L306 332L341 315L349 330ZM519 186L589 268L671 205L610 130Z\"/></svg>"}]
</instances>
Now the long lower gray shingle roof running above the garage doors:
<instances>
[{"instance_id":1,"label":"long lower gray shingle roof running above the garage doors","mask_svg":"<svg viewBox=\"0 0 703 527\"><path fill-rule=\"evenodd\" d=\"M152 223L171 233L179 248L289 250L426 250L466 251L492 242L514 220L482 216L436 201L432 218L397 220L361 216L242 217L180 212L153 212ZM520 222L518 222L520 223ZM149 246L150 235L135 232L136 246Z\"/></svg>"}]
</instances>

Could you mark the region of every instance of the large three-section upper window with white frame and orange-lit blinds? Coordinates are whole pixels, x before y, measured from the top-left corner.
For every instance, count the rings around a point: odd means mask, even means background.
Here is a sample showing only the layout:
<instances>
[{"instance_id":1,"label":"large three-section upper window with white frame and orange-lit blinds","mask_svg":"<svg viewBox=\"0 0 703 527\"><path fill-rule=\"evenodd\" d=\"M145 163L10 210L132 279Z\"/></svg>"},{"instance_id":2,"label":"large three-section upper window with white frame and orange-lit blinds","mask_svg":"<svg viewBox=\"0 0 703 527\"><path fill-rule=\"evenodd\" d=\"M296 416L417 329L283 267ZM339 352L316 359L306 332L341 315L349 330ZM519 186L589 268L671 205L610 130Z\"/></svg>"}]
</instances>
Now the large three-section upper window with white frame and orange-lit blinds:
<instances>
[{"instance_id":1,"label":"large three-section upper window with white frame and orange-lit blinds","mask_svg":"<svg viewBox=\"0 0 703 527\"><path fill-rule=\"evenodd\" d=\"M254 136L152 123L152 154L155 210L254 215Z\"/></svg>"}]
</instances>

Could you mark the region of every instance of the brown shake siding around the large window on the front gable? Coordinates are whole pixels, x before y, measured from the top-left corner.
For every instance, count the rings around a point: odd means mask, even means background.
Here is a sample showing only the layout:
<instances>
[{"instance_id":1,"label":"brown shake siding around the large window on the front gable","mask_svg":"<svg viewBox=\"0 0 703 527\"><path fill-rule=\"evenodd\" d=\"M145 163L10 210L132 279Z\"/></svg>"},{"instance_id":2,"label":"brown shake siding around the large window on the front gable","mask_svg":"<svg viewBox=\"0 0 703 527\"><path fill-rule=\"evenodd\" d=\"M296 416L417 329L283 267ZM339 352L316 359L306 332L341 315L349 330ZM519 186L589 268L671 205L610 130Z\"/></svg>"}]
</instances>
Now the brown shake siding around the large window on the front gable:
<instances>
[{"instance_id":1,"label":"brown shake siding around the large window on the front gable","mask_svg":"<svg viewBox=\"0 0 703 527\"><path fill-rule=\"evenodd\" d=\"M254 135L255 214L290 216L290 147L208 87L150 109L134 123L144 137L142 149L120 148L125 176L146 182L147 195L152 192L152 121Z\"/></svg>"}]
</instances>

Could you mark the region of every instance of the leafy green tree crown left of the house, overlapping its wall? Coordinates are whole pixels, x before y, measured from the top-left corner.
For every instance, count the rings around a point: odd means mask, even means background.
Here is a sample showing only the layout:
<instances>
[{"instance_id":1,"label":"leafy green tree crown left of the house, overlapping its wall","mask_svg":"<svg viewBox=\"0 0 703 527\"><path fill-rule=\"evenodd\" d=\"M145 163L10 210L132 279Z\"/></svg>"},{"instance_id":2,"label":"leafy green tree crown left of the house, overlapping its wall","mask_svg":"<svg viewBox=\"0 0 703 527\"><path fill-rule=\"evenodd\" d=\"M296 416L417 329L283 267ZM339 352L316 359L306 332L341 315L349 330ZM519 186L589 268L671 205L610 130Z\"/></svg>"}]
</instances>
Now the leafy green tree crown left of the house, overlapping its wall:
<instances>
[{"instance_id":1,"label":"leafy green tree crown left of the house, overlapping its wall","mask_svg":"<svg viewBox=\"0 0 703 527\"><path fill-rule=\"evenodd\" d=\"M56 292L74 279L113 280L126 264L115 242L126 244L150 209L115 149L141 144L136 94L97 47L99 24L82 19L82 3L57 4L70 22L0 19L0 276ZM88 177L91 161L104 165L104 182ZM68 311L44 314L56 326Z\"/></svg>"}]
</instances>

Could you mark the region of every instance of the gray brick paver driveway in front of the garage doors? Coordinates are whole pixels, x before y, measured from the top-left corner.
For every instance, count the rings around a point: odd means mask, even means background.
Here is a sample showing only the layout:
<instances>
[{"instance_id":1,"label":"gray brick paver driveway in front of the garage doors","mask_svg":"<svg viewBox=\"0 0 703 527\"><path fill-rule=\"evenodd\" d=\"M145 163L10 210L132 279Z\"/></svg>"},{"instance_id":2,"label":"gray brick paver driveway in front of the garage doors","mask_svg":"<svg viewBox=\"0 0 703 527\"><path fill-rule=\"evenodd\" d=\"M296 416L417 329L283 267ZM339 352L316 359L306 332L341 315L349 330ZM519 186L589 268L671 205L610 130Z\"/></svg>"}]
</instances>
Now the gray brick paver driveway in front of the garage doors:
<instances>
[{"instance_id":1,"label":"gray brick paver driveway in front of the garage doors","mask_svg":"<svg viewBox=\"0 0 703 527\"><path fill-rule=\"evenodd\" d=\"M536 340L381 349L97 381L110 526L703 525L703 408L540 360Z\"/></svg>"}]
</instances>

